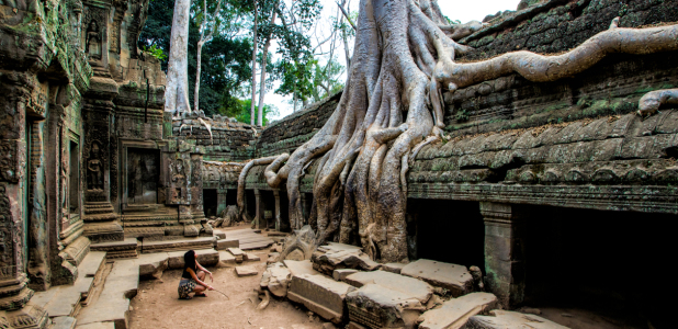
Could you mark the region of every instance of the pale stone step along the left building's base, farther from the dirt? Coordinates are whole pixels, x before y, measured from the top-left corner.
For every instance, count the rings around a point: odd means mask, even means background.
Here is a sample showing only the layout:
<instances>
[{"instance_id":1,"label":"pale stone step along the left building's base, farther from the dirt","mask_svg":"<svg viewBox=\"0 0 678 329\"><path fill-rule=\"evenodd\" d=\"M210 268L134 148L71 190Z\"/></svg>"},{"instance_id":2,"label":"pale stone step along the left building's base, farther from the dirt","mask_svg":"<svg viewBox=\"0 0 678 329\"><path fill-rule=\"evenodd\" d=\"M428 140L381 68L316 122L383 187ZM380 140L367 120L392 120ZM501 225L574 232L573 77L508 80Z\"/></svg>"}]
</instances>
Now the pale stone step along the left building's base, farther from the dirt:
<instances>
[{"instance_id":1,"label":"pale stone step along the left building's base, farther from the dirt","mask_svg":"<svg viewBox=\"0 0 678 329\"><path fill-rule=\"evenodd\" d=\"M50 318L74 317L78 314L94 283L94 276L105 264L106 253L90 251L78 265L78 277L74 284L53 286L37 292L31 302L45 308Z\"/></svg>"}]
</instances>

